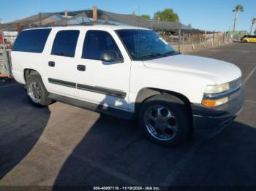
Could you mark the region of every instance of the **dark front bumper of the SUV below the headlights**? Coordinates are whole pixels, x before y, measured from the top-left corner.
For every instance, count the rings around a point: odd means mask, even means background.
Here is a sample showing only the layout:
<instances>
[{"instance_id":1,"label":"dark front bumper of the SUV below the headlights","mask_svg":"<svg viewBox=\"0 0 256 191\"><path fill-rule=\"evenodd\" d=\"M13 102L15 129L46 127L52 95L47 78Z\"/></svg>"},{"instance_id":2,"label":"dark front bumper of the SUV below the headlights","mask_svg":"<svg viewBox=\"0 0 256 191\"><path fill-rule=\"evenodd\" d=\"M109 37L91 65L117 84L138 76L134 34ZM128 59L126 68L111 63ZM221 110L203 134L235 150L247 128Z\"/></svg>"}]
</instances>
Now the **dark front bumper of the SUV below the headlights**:
<instances>
[{"instance_id":1,"label":"dark front bumper of the SUV below the headlights","mask_svg":"<svg viewBox=\"0 0 256 191\"><path fill-rule=\"evenodd\" d=\"M244 90L236 93L227 104L208 108L202 104L192 104L195 136L215 136L232 122L244 105Z\"/></svg>"}]
</instances>

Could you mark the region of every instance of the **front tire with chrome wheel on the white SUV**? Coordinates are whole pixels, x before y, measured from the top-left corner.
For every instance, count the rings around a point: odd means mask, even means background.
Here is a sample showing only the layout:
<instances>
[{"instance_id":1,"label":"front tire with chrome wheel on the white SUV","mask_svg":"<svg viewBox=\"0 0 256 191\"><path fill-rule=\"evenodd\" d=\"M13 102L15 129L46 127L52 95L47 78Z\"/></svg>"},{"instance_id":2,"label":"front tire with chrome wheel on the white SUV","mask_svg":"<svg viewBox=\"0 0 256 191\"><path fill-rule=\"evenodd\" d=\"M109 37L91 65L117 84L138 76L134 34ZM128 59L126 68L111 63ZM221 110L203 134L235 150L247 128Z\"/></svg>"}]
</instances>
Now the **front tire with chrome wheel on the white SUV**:
<instances>
[{"instance_id":1,"label":"front tire with chrome wheel on the white SUV","mask_svg":"<svg viewBox=\"0 0 256 191\"><path fill-rule=\"evenodd\" d=\"M192 130L186 104L173 95L154 95L143 102L139 122L146 137L162 146L187 141Z\"/></svg>"}]
</instances>

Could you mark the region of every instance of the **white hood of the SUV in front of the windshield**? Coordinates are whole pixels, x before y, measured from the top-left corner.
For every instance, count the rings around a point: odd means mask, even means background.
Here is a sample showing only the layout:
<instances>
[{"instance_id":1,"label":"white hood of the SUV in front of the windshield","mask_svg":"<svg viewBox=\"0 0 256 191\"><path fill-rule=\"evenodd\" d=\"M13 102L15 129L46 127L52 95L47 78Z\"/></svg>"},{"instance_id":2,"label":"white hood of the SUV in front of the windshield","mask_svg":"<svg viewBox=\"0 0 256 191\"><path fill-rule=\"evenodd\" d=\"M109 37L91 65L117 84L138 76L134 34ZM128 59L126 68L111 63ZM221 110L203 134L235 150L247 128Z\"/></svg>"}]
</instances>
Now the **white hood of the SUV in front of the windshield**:
<instances>
[{"instance_id":1,"label":"white hood of the SUV in front of the windshield","mask_svg":"<svg viewBox=\"0 0 256 191\"><path fill-rule=\"evenodd\" d=\"M211 79L217 84L233 81L241 77L241 70L232 63L193 55L173 55L144 61L151 69L163 69L194 74Z\"/></svg>"}]
</instances>

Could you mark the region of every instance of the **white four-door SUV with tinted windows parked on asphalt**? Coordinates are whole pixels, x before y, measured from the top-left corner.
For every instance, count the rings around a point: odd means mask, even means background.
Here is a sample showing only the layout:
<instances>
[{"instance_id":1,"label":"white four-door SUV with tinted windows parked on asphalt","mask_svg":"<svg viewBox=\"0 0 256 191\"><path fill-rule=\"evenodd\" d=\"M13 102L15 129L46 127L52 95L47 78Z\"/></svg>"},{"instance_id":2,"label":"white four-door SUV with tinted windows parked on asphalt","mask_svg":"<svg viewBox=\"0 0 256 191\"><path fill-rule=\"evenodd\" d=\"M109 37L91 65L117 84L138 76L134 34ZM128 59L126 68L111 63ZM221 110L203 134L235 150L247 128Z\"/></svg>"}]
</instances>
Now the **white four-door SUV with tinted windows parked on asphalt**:
<instances>
[{"instance_id":1,"label":"white four-door SUV with tinted windows parked on asphalt","mask_svg":"<svg viewBox=\"0 0 256 191\"><path fill-rule=\"evenodd\" d=\"M129 26L33 28L12 48L12 74L35 106L53 101L132 119L157 144L219 132L244 103L241 70L173 50Z\"/></svg>"}]
</instances>

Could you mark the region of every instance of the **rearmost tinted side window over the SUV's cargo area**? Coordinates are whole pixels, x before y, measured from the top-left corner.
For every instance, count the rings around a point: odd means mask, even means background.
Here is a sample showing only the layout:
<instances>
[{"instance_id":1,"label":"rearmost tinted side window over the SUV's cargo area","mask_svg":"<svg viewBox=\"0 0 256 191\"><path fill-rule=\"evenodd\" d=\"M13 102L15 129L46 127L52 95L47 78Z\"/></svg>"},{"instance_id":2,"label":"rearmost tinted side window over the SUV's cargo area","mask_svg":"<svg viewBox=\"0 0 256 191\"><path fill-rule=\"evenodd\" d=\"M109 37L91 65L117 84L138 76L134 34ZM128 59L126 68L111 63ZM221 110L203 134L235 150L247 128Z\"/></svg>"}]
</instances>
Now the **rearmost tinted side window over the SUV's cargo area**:
<instances>
[{"instance_id":1,"label":"rearmost tinted side window over the SUV's cargo area","mask_svg":"<svg viewBox=\"0 0 256 191\"><path fill-rule=\"evenodd\" d=\"M50 28L21 31L12 51L41 53L50 31Z\"/></svg>"}]
</instances>

